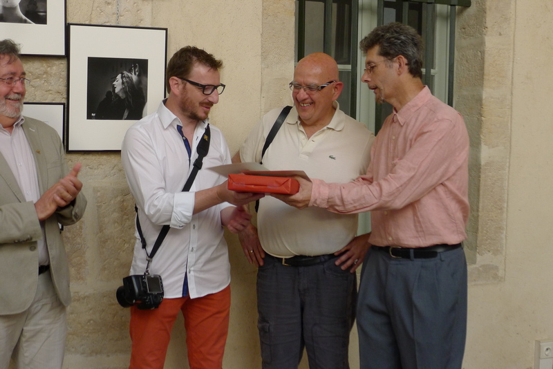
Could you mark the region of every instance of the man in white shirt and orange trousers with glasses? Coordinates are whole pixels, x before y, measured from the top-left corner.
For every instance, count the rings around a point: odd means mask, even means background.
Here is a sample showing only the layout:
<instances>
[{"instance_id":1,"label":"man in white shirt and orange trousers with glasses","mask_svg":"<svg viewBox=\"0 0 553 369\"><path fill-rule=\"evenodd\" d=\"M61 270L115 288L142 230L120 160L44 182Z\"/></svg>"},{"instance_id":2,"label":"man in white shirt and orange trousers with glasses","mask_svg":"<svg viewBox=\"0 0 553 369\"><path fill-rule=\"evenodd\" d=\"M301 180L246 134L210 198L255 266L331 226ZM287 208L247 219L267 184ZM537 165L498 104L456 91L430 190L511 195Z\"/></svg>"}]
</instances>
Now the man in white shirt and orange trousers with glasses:
<instances>
[{"instance_id":1,"label":"man in white shirt and orange trousers with glasses","mask_svg":"<svg viewBox=\"0 0 553 369\"><path fill-rule=\"evenodd\" d=\"M219 73L222 66L195 46L178 50L167 66L169 97L158 111L131 126L123 141L123 169L140 224L131 274L144 274L149 268L150 274L161 276L165 290L157 308L131 307L130 369L163 368L179 312L185 318L190 368L221 369L223 365L230 308L223 226L236 233L250 223L250 214L229 202L244 205L263 195L229 191L225 177L205 169L231 162L223 133L208 119L225 89ZM191 187L183 191L204 140L207 154ZM170 226L169 231L150 263L164 225Z\"/></svg>"}]
</instances>

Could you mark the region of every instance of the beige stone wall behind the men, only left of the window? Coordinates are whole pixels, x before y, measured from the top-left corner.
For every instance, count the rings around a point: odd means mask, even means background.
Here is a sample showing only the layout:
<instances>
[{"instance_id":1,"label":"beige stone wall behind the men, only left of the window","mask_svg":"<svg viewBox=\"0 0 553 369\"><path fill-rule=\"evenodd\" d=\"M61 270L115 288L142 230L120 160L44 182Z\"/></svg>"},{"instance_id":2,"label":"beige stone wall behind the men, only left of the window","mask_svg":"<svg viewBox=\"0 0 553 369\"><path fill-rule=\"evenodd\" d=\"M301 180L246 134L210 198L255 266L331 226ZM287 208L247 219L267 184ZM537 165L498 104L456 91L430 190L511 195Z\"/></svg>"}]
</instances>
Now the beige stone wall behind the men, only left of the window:
<instances>
[{"instance_id":1,"label":"beige stone wall behind the men, only left of the window","mask_svg":"<svg viewBox=\"0 0 553 369\"><path fill-rule=\"evenodd\" d=\"M212 112L232 153L262 113L290 101L294 67L294 1L67 0L68 23L168 28L167 58L196 45L223 59L227 85ZM17 39L15 40L17 41ZM22 57L32 79L26 101L67 102L64 57ZM105 133L106 135L109 132ZM64 368L129 366L129 310L115 300L128 275L134 243L134 202L119 153L68 153L88 198L81 222L66 227L73 303L68 308ZM225 368L259 368L255 273L238 240L225 234L232 264L232 308ZM188 368L182 317L175 325L165 368Z\"/></svg>"}]
</instances>

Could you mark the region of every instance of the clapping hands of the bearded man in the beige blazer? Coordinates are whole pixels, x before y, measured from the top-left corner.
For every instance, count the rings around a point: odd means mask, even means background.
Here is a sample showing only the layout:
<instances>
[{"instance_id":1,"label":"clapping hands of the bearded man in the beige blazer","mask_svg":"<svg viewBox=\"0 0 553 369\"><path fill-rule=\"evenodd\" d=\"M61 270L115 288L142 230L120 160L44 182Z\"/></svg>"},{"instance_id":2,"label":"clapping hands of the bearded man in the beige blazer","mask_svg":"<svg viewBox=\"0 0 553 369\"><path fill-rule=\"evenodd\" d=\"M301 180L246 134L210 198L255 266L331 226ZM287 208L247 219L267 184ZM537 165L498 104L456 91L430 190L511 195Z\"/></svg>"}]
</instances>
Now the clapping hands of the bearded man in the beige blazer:
<instances>
[{"instance_id":1,"label":"clapping hands of the bearded man in the beige blazer","mask_svg":"<svg viewBox=\"0 0 553 369\"><path fill-rule=\"evenodd\" d=\"M58 207L69 205L75 200L82 189L82 182L77 178L81 170L81 163L75 164L67 176L50 187L35 202L35 209L39 220L48 219Z\"/></svg>"}]
</instances>

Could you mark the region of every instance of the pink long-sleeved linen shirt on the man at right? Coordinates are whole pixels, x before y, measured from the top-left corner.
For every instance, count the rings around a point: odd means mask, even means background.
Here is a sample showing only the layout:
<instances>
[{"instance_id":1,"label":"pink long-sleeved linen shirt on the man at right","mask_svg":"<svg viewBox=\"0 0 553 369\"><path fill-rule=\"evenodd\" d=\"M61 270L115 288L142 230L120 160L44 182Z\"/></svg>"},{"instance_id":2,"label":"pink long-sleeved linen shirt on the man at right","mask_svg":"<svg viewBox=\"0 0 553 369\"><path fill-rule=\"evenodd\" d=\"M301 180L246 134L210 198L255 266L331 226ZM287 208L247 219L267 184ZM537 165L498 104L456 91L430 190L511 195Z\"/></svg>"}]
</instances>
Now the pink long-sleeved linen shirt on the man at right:
<instances>
[{"instance_id":1,"label":"pink long-sleeved linen shirt on the man at right","mask_svg":"<svg viewBox=\"0 0 553 369\"><path fill-rule=\"evenodd\" d=\"M312 180L309 205L372 211L372 245L454 245L466 238L468 158L462 116L425 86L386 118L366 175L346 184Z\"/></svg>"}]
</instances>

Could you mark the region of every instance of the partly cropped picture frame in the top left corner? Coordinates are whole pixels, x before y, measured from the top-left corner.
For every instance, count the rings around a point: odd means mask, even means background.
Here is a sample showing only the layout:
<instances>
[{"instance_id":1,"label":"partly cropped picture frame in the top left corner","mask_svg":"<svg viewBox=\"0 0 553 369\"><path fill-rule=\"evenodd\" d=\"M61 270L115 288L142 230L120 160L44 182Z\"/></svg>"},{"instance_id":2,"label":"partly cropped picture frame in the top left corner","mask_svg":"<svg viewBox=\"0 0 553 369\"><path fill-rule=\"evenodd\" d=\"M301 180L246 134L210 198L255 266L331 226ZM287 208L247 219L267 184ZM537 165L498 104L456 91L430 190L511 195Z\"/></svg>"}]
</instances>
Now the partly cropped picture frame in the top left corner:
<instances>
[{"instance_id":1,"label":"partly cropped picture frame in the top left corner","mask_svg":"<svg viewBox=\"0 0 553 369\"><path fill-rule=\"evenodd\" d=\"M66 0L3 0L0 12L0 35L21 55L66 56Z\"/></svg>"}]
</instances>

